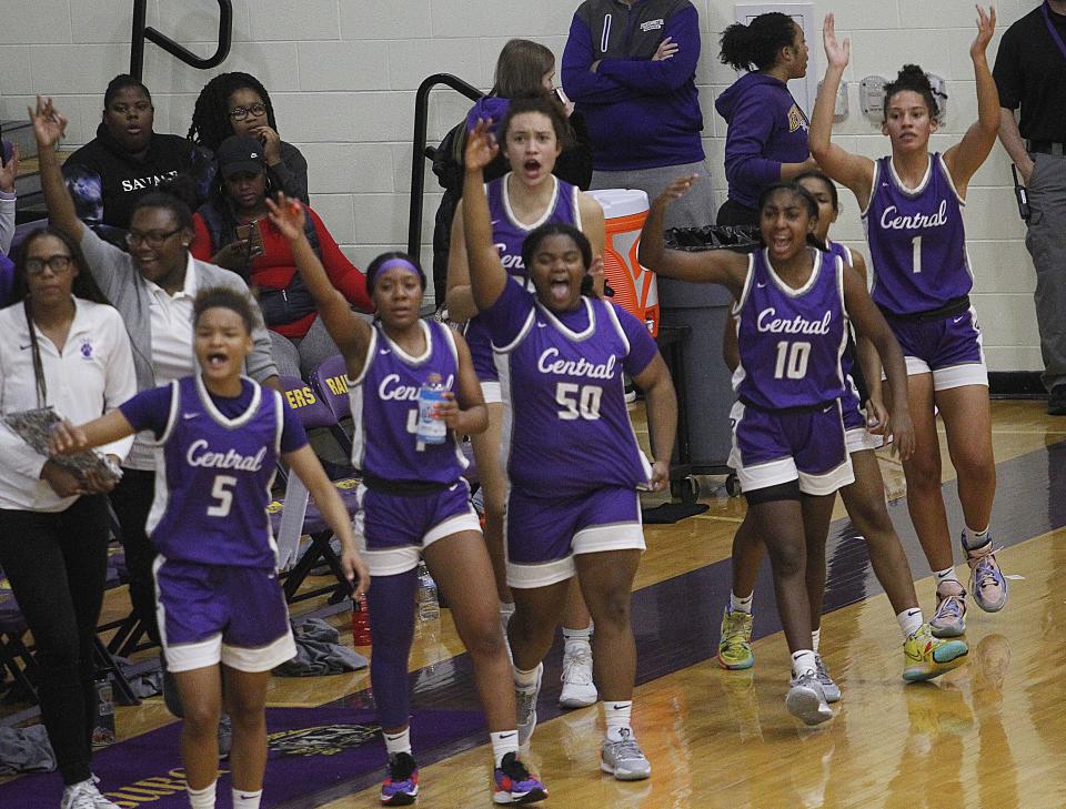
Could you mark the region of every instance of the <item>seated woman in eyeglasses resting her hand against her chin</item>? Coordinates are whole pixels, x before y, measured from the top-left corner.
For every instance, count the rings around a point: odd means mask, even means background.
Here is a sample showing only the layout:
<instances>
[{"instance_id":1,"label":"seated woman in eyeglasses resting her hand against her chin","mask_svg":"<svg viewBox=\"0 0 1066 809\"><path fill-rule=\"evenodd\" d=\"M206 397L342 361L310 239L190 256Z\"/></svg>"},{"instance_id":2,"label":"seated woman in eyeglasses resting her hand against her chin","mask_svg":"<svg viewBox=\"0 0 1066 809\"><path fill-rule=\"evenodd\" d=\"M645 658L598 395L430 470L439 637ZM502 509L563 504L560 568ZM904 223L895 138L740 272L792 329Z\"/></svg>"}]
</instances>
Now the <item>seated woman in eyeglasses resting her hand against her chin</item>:
<instances>
[{"instance_id":1,"label":"seated woman in eyeglasses resting her hand against her chin","mask_svg":"<svg viewBox=\"0 0 1066 809\"><path fill-rule=\"evenodd\" d=\"M235 134L250 134L262 144L266 175L275 191L283 191L286 196L294 196L304 204L310 202L308 161L299 149L278 134L274 107L266 88L248 73L221 73L200 91L189 140L214 154L222 141ZM204 196L213 179L213 170L202 176Z\"/></svg>"}]
</instances>

